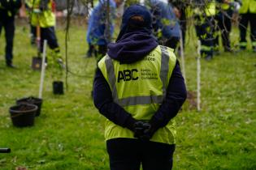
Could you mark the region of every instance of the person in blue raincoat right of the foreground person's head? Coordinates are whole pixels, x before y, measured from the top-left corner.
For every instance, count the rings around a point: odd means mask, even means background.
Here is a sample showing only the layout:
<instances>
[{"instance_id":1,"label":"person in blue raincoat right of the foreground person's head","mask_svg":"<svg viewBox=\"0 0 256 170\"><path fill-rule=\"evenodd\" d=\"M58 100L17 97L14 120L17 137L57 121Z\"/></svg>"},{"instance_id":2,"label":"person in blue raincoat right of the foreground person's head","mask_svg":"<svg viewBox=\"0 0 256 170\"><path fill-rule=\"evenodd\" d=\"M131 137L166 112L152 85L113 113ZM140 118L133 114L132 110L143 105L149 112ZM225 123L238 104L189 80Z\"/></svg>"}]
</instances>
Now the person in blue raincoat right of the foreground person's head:
<instances>
[{"instance_id":1,"label":"person in blue raincoat right of the foreground person's head","mask_svg":"<svg viewBox=\"0 0 256 170\"><path fill-rule=\"evenodd\" d=\"M176 49L180 40L180 23L167 0L150 0L153 28L159 44Z\"/></svg>"}]
</instances>

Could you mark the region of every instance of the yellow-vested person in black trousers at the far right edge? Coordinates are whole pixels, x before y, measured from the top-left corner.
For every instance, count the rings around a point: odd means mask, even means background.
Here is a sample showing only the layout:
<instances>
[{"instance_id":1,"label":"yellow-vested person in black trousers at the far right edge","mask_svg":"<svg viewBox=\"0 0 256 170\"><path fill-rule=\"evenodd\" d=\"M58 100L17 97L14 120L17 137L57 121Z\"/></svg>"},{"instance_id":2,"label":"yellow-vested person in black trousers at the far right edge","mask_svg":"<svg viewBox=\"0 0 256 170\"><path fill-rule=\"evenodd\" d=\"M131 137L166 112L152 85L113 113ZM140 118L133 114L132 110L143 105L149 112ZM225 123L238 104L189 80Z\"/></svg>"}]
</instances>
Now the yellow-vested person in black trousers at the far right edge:
<instances>
[{"instance_id":1,"label":"yellow-vested person in black trousers at the far right edge","mask_svg":"<svg viewBox=\"0 0 256 170\"><path fill-rule=\"evenodd\" d=\"M256 53L256 1L243 0L239 14L241 15L239 23L240 49L244 50L247 47L246 32L248 24L250 24L250 40L253 46L253 51Z\"/></svg>"}]
</instances>

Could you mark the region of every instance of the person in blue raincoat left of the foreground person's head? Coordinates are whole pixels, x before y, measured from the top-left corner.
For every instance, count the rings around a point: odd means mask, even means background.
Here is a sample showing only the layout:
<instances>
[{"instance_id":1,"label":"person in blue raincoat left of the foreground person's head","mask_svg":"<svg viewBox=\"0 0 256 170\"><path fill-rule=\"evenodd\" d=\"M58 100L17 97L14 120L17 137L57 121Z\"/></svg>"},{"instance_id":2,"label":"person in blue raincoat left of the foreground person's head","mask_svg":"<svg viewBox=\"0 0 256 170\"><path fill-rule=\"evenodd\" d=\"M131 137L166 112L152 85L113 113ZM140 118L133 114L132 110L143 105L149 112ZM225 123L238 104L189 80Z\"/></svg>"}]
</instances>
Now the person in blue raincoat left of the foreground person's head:
<instances>
[{"instance_id":1,"label":"person in blue raincoat left of the foreground person's head","mask_svg":"<svg viewBox=\"0 0 256 170\"><path fill-rule=\"evenodd\" d=\"M113 19L115 18L115 9L121 4L121 0L109 0L110 2L110 32L106 32L106 14L107 14L107 0L100 0L98 5L93 8L92 14L89 17L86 40L89 44L87 57L92 57L93 54L97 60L101 59L106 53L107 33L110 37L114 32Z\"/></svg>"}]
</instances>

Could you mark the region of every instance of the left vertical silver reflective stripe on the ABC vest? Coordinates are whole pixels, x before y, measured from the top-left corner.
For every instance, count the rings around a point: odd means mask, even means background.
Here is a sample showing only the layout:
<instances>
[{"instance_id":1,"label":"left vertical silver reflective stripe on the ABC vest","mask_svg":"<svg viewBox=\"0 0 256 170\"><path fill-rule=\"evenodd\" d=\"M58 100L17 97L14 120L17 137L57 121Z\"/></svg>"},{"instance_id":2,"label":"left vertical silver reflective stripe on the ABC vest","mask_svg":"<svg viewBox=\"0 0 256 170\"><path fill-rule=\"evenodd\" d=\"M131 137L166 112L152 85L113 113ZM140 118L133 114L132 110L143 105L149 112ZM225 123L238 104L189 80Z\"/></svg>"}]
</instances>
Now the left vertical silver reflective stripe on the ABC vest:
<instances>
[{"instance_id":1,"label":"left vertical silver reflective stripe on the ABC vest","mask_svg":"<svg viewBox=\"0 0 256 170\"><path fill-rule=\"evenodd\" d=\"M118 96L117 96L117 90L115 86L115 80L116 80L115 70L114 70L112 59L108 55L106 55L105 64L106 64L107 77L108 77L109 83L111 84L112 97L113 97L113 100L116 102L118 100Z\"/></svg>"}]
</instances>

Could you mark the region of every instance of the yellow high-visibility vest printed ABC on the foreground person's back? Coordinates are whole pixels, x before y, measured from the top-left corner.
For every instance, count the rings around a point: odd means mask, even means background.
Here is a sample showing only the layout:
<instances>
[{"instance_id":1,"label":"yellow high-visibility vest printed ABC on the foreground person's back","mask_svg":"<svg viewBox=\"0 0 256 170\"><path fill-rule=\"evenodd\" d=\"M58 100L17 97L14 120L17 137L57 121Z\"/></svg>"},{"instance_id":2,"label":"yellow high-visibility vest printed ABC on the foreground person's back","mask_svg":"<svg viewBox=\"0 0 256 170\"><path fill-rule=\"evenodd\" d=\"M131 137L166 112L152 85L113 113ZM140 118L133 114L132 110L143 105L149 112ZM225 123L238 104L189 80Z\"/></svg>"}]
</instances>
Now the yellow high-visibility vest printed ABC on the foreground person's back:
<instances>
[{"instance_id":1,"label":"yellow high-visibility vest printed ABC on the foreground person's back","mask_svg":"<svg viewBox=\"0 0 256 170\"><path fill-rule=\"evenodd\" d=\"M114 102L141 121L149 121L163 103L175 65L173 50L160 45L141 61L131 64L119 64L107 55L98 62L99 69L111 87ZM134 137L131 130L106 120L105 138ZM176 143L175 121L171 120L157 130L150 141Z\"/></svg>"}]
</instances>

